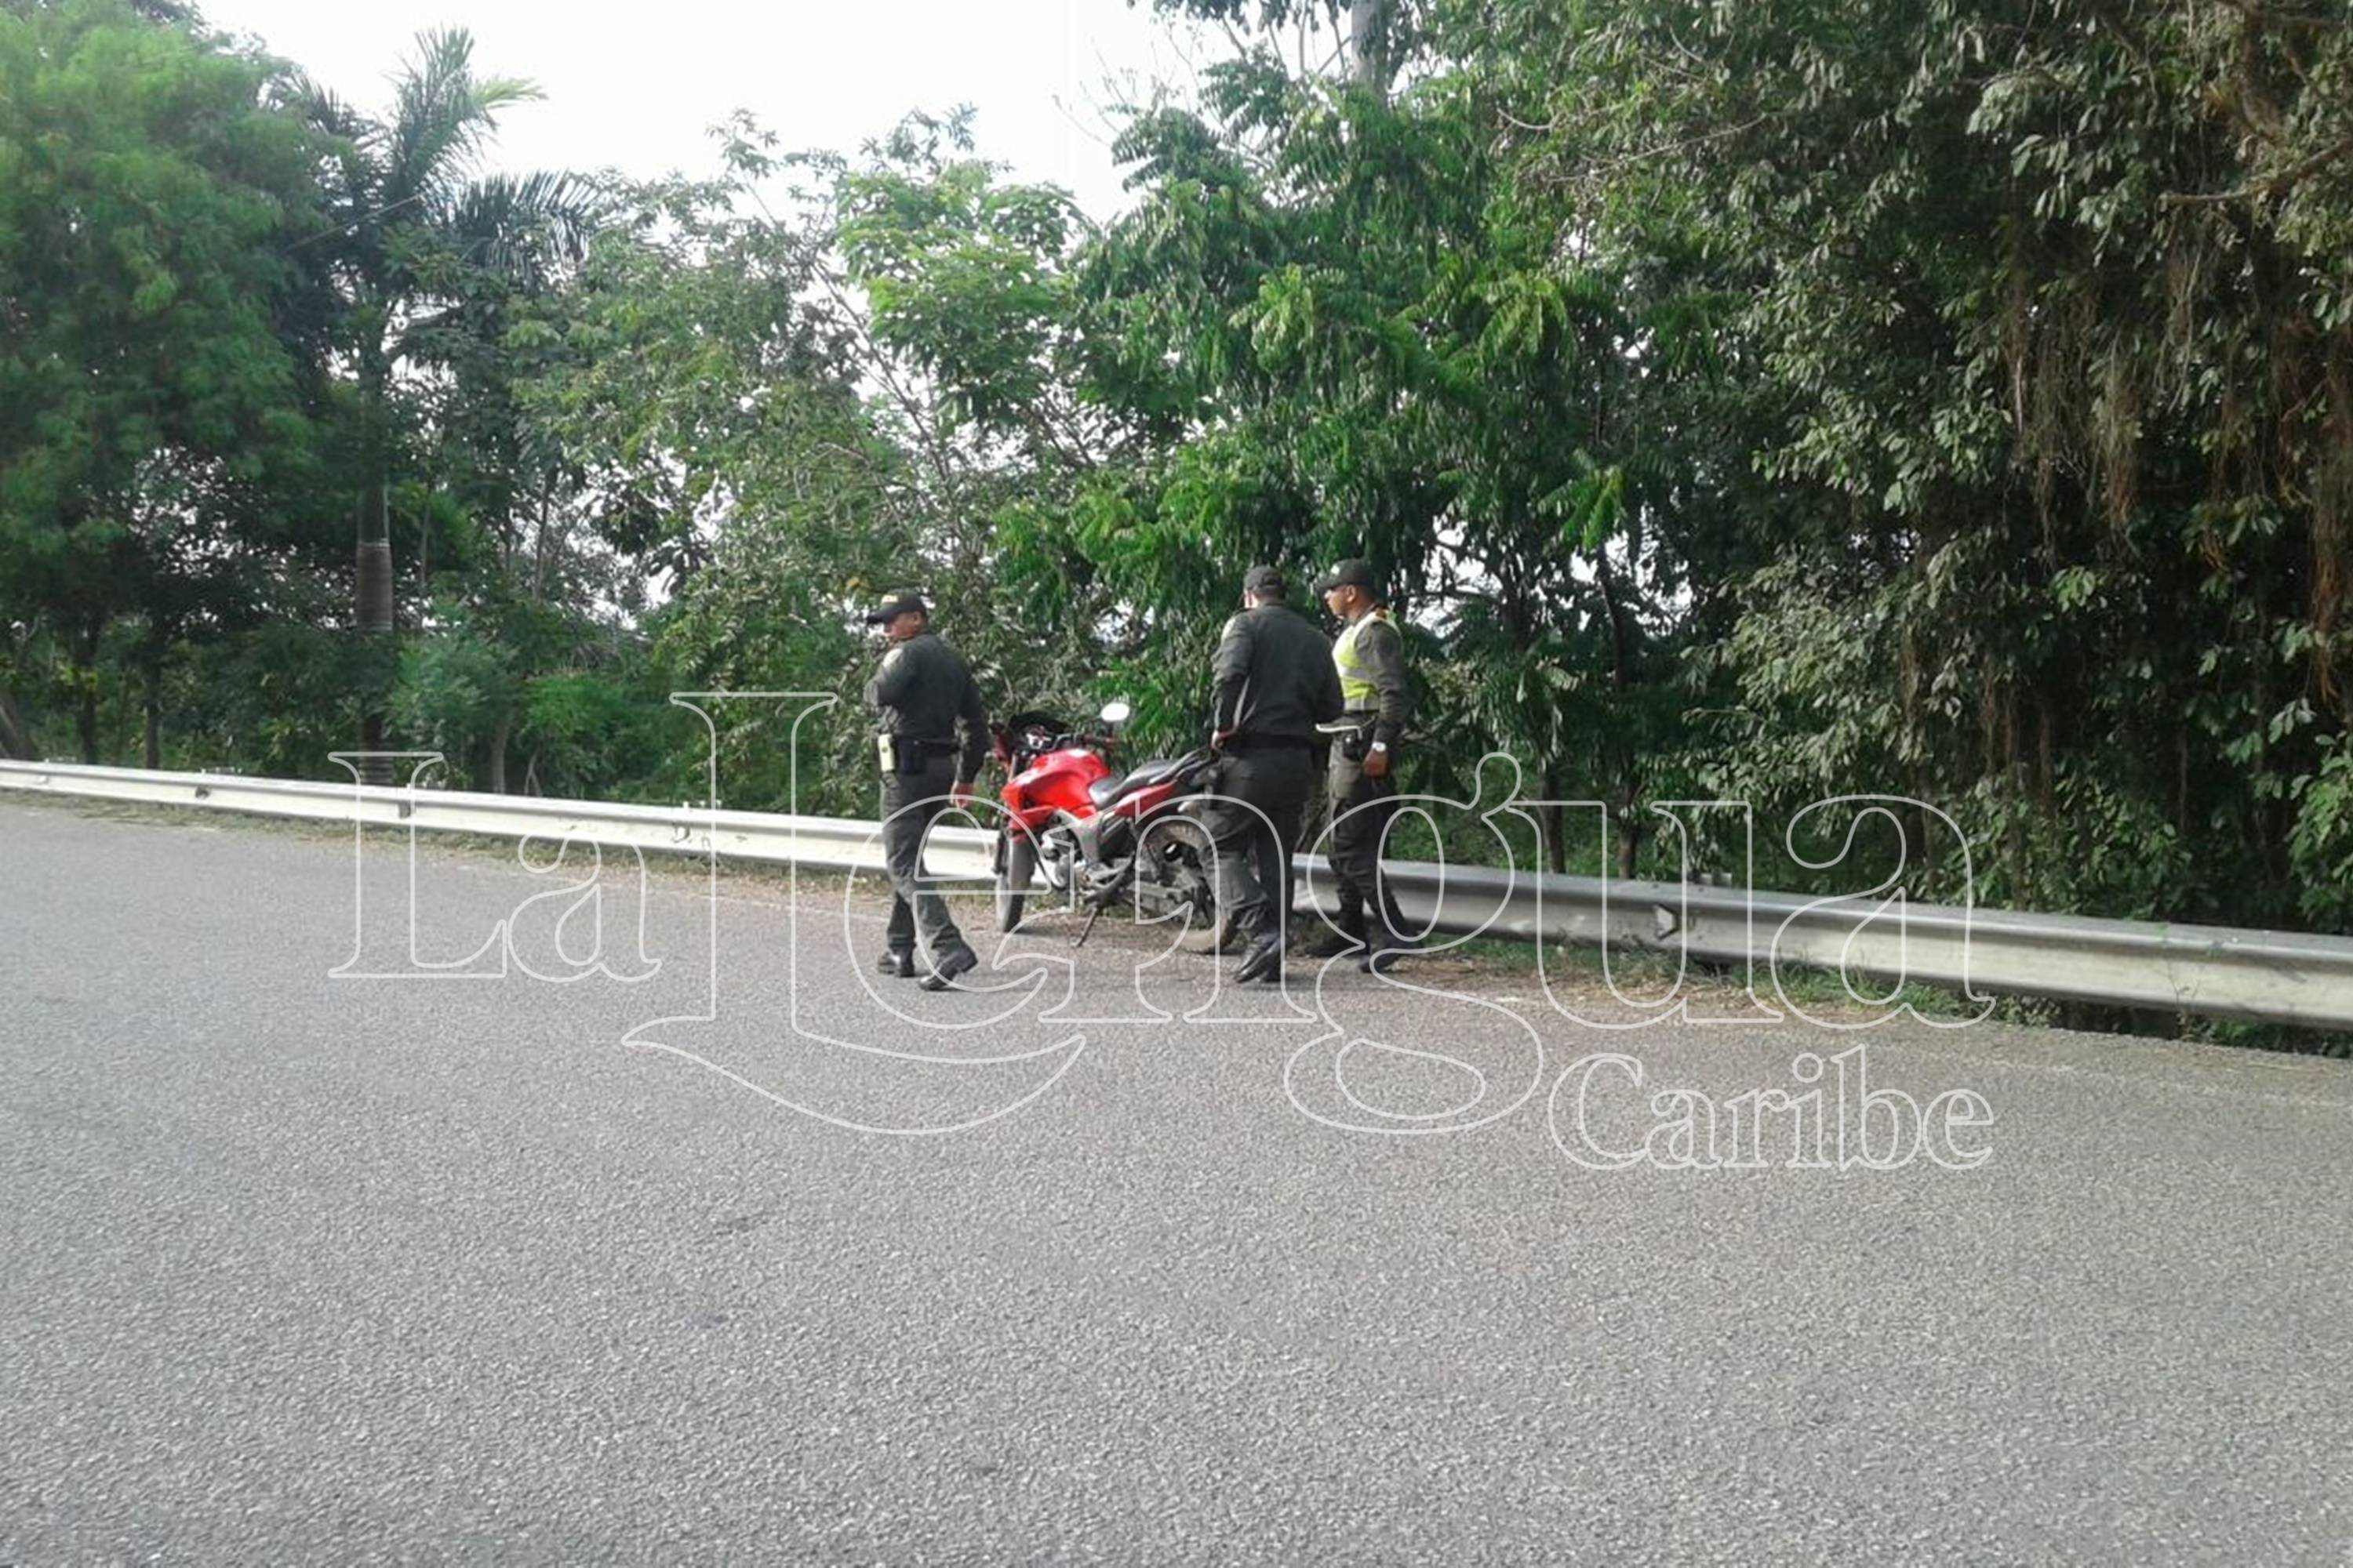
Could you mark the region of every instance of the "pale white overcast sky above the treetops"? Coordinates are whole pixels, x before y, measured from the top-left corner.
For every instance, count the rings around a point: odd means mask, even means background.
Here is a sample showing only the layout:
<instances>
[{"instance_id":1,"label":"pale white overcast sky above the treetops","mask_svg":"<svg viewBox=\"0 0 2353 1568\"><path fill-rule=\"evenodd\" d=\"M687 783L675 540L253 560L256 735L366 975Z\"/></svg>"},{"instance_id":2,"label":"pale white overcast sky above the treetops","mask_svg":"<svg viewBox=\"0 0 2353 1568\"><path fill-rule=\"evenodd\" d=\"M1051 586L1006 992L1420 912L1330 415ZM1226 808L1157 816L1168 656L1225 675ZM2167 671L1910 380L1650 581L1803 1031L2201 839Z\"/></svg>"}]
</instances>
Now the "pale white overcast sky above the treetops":
<instances>
[{"instance_id":1,"label":"pale white overcast sky above the treetops","mask_svg":"<svg viewBox=\"0 0 2353 1568\"><path fill-rule=\"evenodd\" d=\"M1191 82L1191 35L1125 0L200 0L362 110L419 31L466 26L475 68L546 92L511 110L508 169L718 167L706 129L753 110L791 148L854 150L911 108L979 108L979 148L1106 216L1122 205L1106 78Z\"/></svg>"}]
</instances>

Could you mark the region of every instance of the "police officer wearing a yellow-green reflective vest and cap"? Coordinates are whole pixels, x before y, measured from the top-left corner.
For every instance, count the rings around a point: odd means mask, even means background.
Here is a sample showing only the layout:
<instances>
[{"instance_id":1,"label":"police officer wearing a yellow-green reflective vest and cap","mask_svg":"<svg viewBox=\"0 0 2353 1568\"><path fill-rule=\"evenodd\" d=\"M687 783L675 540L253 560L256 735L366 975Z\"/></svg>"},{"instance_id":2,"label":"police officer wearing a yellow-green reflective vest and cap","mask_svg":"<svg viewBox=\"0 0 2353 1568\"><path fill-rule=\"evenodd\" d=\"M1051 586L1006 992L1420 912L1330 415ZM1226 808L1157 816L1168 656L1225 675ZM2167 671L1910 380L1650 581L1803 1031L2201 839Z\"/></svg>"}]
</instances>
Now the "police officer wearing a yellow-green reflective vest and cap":
<instances>
[{"instance_id":1,"label":"police officer wearing a yellow-green reflective vest and cap","mask_svg":"<svg viewBox=\"0 0 2353 1568\"><path fill-rule=\"evenodd\" d=\"M1405 931L1398 898L1381 877L1381 835L1398 811L1395 755L1414 693L1405 677L1405 635L1381 607L1372 567L1346 559L1315 581L1325 609L1341 623L1332 639L1341 717L1355 729L1332 748L1327 792L1332 799L1332 877L1339 882L1339 931L1306 947L1329 959L1362 952L1362 969L1388 969L1419 947ZM1379 922L1365 929L1365 912Z\"/></svg>"}]
</instances>

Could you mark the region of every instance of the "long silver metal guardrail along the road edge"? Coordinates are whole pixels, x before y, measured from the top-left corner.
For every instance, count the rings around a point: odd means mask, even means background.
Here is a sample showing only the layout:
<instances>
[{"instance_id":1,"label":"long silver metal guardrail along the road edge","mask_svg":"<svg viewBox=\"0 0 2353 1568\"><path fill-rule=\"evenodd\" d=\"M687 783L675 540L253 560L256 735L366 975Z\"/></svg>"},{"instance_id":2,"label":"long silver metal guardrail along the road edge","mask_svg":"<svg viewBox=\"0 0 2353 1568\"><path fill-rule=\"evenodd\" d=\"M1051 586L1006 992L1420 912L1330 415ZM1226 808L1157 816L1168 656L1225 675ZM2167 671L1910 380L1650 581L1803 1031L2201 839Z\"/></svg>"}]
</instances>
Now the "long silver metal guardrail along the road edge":
<instances>
[{"instance_id":1,"label":"long silver metal guardrail along the road edge","mask_svg":"<svg viewBox=\"0 0 2353 1568\"><path fill-rule=\"evenodd\" d=\"M882 870L875 823L819 816L28 762L0 762L0 790L428 832L574 837L814 870ZM991 837L974 827L936 827L927 860L932 875L986 877ZM1299 856L1297 863L1308 893L1329 907L1332 872L1325 860ZM1760 987L1772 985L1772 966L1779 964L1972 994L2353 1030L2353 940L2339 936L1882 905L1878 898L1800 898L1424 863L1391 863L1388 875L1405 917L1433 931L1682 952L1708 964L1753 966Z\"/></svg>"}]
</instances>

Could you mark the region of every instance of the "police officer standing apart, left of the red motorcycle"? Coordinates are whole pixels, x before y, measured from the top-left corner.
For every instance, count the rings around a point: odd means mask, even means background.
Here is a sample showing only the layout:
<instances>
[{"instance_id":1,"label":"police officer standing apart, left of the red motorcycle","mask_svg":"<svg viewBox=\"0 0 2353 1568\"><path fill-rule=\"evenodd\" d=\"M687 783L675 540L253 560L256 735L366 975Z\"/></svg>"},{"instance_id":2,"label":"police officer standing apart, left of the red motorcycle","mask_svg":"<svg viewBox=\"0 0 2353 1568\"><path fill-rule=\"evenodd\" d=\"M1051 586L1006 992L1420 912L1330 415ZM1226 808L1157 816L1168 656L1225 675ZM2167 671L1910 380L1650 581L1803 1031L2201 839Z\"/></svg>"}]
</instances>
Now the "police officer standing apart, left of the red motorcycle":
<instances>
[{"instance_id":1,"label":"police officer standing apart, left of the red motorcycle","mask_svg":"<svg viewBox=\"0 0 2353 1568\"><path fill-rule=\"evenodd\" d=\"M932 632L932 611L913 590L899 590L866 616L889 637L882 668L866 682L882 757L882 863L889 867L889 933L882 973L915 973L915 931L932 959L922 990L948 990L979 964L948 900L922 886L922 835L948 809L972 799L972 780L988 757L988 712L965 661ZM962 745L955 729L962 724Z\"/></svg>"}]
</instances>

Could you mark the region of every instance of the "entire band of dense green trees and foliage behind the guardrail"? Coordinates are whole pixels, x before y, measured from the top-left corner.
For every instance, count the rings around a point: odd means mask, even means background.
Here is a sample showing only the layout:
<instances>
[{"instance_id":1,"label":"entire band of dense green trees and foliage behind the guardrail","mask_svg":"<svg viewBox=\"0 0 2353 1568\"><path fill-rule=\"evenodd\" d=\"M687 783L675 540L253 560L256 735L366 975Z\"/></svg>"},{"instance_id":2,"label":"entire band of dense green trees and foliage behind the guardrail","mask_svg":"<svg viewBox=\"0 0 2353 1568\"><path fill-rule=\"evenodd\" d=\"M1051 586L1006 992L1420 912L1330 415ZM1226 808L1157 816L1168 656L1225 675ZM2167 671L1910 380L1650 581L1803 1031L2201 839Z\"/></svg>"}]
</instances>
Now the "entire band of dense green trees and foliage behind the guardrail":
<instances>
[{"instance_id":1,"label":"entire band of dense green trees and foliage behind the guardrail","mask_svg":"<svg viewBox=\"0 0 2353 1568\"><path fill-rule=\"evenodd\" d=\"M372 118L7 0L0 748L334 776L379 712L682 799L671 693L847 698L904 581L998 708L1172 743L1247 562L1367 555L1417 783L1598 802L1555 865L1673 870L1654 806L1725 797L1798 886L1779 827L1882 792L1918 893L2353 919L2341 5L1160 7L1224 56L1096 223L962 115L489 176L529 87L461 33ZM711 710L781 804L774 712ZM854 722L805 743L864 809Z\"/></svg>"}]
</instances>

